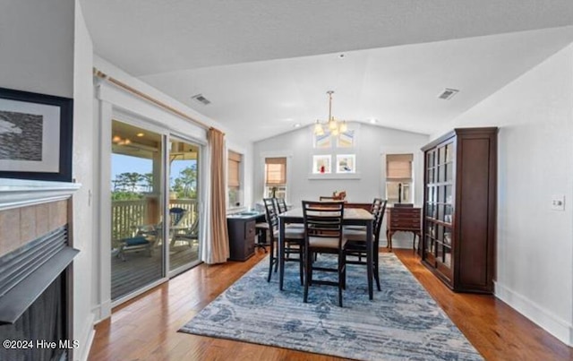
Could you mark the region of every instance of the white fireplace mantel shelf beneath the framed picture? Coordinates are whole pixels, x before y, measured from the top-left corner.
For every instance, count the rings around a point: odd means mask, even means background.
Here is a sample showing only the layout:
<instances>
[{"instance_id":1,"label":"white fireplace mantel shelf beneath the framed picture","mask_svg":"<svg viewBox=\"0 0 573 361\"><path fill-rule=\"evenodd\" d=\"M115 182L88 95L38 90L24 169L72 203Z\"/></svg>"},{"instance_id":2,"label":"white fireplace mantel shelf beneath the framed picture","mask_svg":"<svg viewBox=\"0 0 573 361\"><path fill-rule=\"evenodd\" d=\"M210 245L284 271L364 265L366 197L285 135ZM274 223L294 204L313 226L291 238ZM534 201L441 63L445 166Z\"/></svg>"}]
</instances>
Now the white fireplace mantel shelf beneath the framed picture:
<instances>
[{"instance_id":1,"label":"white fireplace mantel shelf beneath the framed picture","mask_svg":"<svg viewBox=\"0 0 573 361\"><path fill-rule=\"evenodd\" d=\"M0 211L70 198L79 183L0 178Z\"/></svg>"}]
</instances>

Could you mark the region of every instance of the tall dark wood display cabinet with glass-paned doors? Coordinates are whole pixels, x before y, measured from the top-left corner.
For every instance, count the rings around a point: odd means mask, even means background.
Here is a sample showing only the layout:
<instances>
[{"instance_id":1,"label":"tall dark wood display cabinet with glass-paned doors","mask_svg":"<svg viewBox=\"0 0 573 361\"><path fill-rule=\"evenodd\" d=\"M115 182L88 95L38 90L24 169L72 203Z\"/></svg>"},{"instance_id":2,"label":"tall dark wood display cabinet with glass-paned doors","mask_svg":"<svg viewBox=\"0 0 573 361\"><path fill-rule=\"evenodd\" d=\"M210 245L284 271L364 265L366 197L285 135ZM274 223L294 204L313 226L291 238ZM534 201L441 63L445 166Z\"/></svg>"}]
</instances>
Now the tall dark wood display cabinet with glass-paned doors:
<instances>
[{"instance_id":1,"label":"tall dark wood display cabinet with glass-paned doors","mask_svg":"<svg viewBox=\"0 0 573 361\"><path fill-rule=\"evenodd\" d=\"M458 128L422 148L422 262L454 291L493 292L497 133Z\"/></svg>"}]
</instances>

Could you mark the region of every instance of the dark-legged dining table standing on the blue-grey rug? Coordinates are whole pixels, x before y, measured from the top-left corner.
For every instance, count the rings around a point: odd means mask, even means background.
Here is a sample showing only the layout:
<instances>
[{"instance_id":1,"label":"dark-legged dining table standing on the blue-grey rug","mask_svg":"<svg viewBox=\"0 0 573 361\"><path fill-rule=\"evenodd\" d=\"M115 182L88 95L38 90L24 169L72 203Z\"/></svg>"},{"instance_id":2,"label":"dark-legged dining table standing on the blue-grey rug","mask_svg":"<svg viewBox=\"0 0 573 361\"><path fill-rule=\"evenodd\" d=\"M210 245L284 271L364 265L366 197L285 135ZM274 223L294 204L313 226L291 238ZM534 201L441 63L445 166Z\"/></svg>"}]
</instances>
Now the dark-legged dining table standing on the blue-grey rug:
<instances>
[{"instance_id":1,"label":"dark-legged dining table standing on the blue-grey rug","mask_svg":"<svg viewBox=\"0 0 573 361\"><path fill-rule=\"evenodd\" d=\"M299 223L304 224L304 215L302 208L294 208L278 214L278 288L283 290L285 275L285 228L287 224ZM371 212L360 208L345 208L342 223L344 226L364 226L366 227L366 262L368 263L368 297L373 298L372 288L372 262L373 255L373 236L372 225L374 216Z\"/></svg>"}]
</instances>

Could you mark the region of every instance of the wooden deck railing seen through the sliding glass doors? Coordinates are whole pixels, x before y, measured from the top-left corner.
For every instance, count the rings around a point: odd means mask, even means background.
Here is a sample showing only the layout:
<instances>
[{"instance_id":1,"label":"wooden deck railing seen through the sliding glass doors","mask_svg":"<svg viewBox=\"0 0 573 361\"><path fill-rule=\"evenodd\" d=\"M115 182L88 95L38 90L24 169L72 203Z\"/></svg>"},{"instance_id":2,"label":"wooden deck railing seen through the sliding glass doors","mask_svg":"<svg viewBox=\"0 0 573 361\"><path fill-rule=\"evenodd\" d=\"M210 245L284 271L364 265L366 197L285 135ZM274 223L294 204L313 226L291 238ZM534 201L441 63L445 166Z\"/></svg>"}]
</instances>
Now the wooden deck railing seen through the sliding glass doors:
<instances>
[{"instance_id":1,"label":"wooden deck railing seen through the sliding glass doors","mask_svg":"<svg viewBox=\"0 0 573 361\"><path fill-rule=\"evenodd\" d=\"M117 241L135 236L138 227L149 225L151 204L154 204L153 200L148 199L138 201L112 201L112 240ZM196 199L169 200L169 208L174 207L183 208L185 210L184 219L179 222L180 226L191 227L199 217ZM159 221L157 223L159 223Z\"/></svg>"}]
</instances>

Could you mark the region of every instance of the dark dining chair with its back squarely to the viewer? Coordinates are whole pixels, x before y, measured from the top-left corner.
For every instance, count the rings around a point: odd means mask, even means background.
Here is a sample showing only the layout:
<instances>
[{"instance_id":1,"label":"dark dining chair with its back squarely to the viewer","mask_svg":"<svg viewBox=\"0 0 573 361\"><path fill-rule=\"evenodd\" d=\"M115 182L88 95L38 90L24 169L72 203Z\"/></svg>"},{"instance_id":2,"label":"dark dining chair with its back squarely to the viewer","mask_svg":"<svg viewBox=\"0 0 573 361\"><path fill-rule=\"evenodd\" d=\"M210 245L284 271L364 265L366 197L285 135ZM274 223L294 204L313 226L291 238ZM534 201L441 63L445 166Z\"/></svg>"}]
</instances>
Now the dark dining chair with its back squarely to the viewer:
<instances>
[{"instance_id":1,"label":"dark dining chair with its back squarely to the viewer","mask_svg":"<svg viewBox=\"0 0 573 361\"><path fill-rule=\"evenodd\" d=\"M338 305L342 307L342 290L346 279L346 262L342 222L344 202L303 201L304 219L304 303L308 302L308 288L311 285L329 285L338 287ZM312 254L336 254L337 267L332 268L313 262ZM336 272L337 281L313 279L312 271Z\"/></svg>"}]
</instances>

